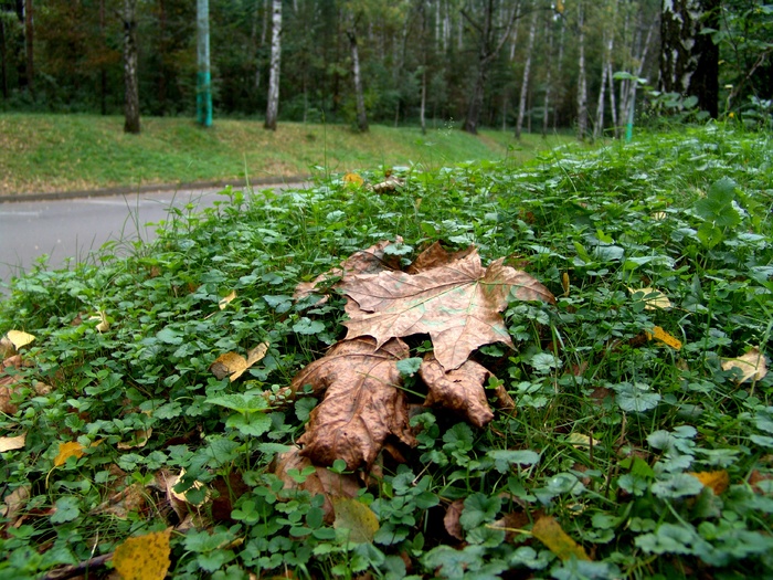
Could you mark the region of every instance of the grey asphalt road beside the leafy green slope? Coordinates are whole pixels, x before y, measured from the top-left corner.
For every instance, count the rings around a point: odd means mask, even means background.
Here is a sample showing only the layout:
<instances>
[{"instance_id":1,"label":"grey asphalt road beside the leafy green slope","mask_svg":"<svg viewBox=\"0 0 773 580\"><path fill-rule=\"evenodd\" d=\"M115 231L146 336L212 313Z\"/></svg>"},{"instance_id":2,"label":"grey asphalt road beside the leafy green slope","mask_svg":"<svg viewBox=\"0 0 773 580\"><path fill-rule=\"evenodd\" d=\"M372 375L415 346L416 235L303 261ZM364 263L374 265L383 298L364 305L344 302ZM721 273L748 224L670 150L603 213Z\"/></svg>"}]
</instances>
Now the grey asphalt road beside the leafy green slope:
<instances>
[{"instance_id":1,"label":"grey asphalt road beside the leafy green slope","mask_svg":"<svg viewBox=\"0 0 773 580\"><path fill-rule=\"evenodd\" d=\"M130 242L156 238L156 228L148 224L166 220L171 207L192 203L203 210L226 199L218 194L221 190L0 203L0 294L8 292L11 277L28 272L43 255L47 256L46 270L54 270L88 261L108 241L119 242L114 249L117 255L128 253Z\"/></svg>"}]
</instances>

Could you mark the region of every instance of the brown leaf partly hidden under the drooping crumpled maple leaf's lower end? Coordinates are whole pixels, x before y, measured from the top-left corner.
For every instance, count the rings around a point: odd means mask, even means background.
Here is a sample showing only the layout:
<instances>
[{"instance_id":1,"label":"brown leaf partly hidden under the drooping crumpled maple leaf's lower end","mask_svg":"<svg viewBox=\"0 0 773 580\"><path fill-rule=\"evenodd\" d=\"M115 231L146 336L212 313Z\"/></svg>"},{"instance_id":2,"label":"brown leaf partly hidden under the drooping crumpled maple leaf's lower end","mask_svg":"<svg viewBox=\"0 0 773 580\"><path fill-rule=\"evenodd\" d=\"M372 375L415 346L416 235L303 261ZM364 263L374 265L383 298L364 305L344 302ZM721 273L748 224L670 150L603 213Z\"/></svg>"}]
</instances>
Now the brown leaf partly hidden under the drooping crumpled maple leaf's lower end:
<instances>
[{"instance_id":1,"label":"brown leaf partly hidden under the drooping crumpled maple leaf's lower end","mask_svg":"<svg viewBox=\"0 0 773 580\"><path fill-rule=\"evenodd\" d=\"M303 483L298 483L288 473L290 470L303 472L307 467L314 467L314 473L306 476ZM284 482L285 489L303 489L311 495L322 495L322 510L327 524L332 524L336 519L333 498L357 497L361 488L357 477L351 474L341 475L327 467L314 465L308 457L300 455L299 447L293 447L274 460L274 474Z\"/></svg>"}]
</instances>

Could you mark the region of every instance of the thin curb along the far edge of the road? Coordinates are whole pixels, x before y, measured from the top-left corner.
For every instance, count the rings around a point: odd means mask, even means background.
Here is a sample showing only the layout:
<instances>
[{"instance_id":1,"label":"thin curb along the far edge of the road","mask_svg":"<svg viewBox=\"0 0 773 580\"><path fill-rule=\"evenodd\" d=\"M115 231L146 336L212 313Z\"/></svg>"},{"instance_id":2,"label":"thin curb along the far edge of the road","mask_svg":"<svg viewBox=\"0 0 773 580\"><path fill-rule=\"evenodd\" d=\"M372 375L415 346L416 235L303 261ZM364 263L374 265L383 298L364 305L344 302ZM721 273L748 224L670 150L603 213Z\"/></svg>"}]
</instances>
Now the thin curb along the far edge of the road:
<instances>
[{"instance_id":1,"label":"thin curb along the far edge of the road","mask_svg":"<svg viewBox=\"0 0 773 580\"><path fill-rule=\"evenodd\" d=\"M267 177L260 179L223 179L214 181L191 181L179 183L160 183L156 186L116 186L104 189L83 189L74 191L53 191L49 193L18 193L15 196L0 196L0 203L13 203L21 201L59 201L81 198L104 198L109 196L128 196L133 193L156 193L161 191L184 191L190 189L215 189L232 187L261 187L261 186L280 186L287 183L303 183L310 181L311 176L287 176L287 177Z\"/></svg>"}]
</instances>

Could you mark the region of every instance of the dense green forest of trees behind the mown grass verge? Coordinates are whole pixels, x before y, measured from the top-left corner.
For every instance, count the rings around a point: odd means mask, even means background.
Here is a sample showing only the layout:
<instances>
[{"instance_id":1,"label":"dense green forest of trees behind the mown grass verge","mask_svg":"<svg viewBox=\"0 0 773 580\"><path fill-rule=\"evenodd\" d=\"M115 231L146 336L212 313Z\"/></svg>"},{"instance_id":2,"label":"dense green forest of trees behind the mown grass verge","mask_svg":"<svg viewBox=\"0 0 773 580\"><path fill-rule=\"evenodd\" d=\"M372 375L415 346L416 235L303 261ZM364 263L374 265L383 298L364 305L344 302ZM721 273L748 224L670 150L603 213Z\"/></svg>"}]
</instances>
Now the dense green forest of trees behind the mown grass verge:
<instances>
[{"instance_id":1,"label":"dense green forest of trees behind the mown grass verge","mask_svg":"<svg viewBox=\"0 0 773 580\"><path fill-rule=\"evenodd\" d=\"M754 120L773 92L761 0L0 0L0 109L124 113L134 50L137 114L194 115L202 3L215 118L265 118L275 84L280 120L585 138L637 97Z\"/></svg>"}]
</instances>

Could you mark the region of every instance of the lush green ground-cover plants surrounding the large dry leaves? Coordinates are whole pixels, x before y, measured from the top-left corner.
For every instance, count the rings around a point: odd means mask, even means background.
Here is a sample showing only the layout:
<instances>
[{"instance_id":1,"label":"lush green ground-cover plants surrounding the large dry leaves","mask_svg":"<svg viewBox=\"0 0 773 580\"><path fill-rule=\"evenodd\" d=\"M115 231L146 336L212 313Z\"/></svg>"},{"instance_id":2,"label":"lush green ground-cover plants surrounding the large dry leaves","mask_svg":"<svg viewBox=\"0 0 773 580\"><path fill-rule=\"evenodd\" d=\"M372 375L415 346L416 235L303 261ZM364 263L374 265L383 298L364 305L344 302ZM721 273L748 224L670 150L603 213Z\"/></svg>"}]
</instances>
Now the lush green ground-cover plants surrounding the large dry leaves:
<instances>
[{"instance_id":1,"label":"lush green ground-cover plants surrounding the large dry leaves","mask_svg":"<svg viewBox=\"0 0 773 580\"><path fill-rule=\"evenodd\" d=\"M771 351L772 151L770 134L710 125L527 168L407 171L393 196L337 176L226 189L127 260L17 280L0 333L35 339L0 416L0 441L27 436L2 453L0 578L130 537L180 579L770 577L773 379L759 357L733 360ZM475 357L516 412L476 429L415 407L417 445L352 474L357 500L331 525L325 496L298 486L328 474L335 494L346 464L280 477L272 462L317 402L284 388L342 338L343 300L292 295L396 236L406 260L437 240L507 256L558 302L511 300L515 350ZM261 342L241 379L213 376ZM182 470L174 498L165 482Z\"/></svg>"}]
</instances>

